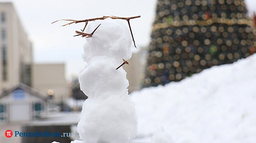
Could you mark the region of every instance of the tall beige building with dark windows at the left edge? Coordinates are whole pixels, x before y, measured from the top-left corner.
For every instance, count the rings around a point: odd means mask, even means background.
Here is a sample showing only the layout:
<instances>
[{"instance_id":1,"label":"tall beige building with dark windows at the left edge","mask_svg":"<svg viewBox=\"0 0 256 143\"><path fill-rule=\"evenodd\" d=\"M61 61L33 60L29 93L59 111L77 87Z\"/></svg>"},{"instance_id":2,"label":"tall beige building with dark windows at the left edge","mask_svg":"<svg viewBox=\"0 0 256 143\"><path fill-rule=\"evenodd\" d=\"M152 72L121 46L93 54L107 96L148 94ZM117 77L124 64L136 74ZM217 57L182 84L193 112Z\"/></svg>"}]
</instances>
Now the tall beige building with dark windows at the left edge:
<instances>
[{"instance_id":1,"label":"tall beige building with dark windows at the left edge","mask_svg":"<svg viewBox=\"0 0 256 143\"><path fill-rule=\"evenodd\" d=\"M31 84L32 44L13 4L0 3L0 91L22 82Z\"/></svg>"}]
</instances>

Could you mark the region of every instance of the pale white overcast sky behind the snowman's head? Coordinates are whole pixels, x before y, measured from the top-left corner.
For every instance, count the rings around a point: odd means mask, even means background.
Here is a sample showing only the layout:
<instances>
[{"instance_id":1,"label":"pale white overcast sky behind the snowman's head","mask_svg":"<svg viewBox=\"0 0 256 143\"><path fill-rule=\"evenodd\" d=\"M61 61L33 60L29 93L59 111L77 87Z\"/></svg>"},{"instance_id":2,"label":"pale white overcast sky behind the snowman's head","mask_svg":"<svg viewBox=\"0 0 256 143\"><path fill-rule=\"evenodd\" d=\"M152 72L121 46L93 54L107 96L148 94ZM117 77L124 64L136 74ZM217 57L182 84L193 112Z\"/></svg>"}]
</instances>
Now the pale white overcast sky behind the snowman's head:
<instances>
[{"instance_id":1,"label":"pale white overcast sky behind the snowman's head","mask_svg":"<svg viewBox=\"0 0 256 143\"><path fill-rule=\"evenodd\" d=\"M149 44L157 0L10 0L34 47L35 63L66 63L66 77L78 76L85 38L72 37L84 24L59 27L59 19L83 20L102 16L141 18L130 20L137 47ZM6 2L0 0L0 2ZM246 0L249 11L256 0Z\"/></svg>"}]
</instances>

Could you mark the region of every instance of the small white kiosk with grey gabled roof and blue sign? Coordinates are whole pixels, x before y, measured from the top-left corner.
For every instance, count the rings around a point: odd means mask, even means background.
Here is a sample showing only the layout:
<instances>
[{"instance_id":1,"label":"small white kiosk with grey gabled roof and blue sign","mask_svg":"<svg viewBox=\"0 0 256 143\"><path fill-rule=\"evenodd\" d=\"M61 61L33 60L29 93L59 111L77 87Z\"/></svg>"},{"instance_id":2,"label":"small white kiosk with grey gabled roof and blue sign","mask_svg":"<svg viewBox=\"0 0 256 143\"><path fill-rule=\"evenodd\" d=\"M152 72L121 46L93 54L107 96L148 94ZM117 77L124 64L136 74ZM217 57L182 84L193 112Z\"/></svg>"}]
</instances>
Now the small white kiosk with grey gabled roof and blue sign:
<instances>
[{"instance_id":1,"label":"small white kiosk with grey gabled roof and blue sign","mask_svg":"<svg viewBox=\"0 0 256 143\"><path fill-rule=\"evenodd\" d=\"M0 122L32 121L46 112L48 95L23 84L0 95Z\"/></svg>"}]
</instances>

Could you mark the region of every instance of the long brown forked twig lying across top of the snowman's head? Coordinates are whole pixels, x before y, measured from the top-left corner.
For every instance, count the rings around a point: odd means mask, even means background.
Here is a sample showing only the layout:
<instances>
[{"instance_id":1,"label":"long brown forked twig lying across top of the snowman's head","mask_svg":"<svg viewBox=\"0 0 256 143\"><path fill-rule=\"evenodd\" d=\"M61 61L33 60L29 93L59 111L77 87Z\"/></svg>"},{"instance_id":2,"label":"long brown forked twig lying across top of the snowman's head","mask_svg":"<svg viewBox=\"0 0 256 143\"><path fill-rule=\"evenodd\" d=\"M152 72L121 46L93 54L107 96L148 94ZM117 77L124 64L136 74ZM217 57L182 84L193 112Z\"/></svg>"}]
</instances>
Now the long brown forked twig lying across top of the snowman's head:
<instances>
[{"instance_id":1,"label":"long brown forked twig lying across top of the snowman's head","mask_svg":"<svg viewBox=\"0 0 256 143\"><path fill-rule=\"evenodd\" d=\"M104 19L106 19L106 18L111 18L111 19L123 19L123 20L126 20L126 21L128 22L128 25L129 25L129 28L130 28L130 33L131 33L132 38L133 38L133 32L132 32L132 29L131 29L131 26L130 26L130 20L131 20L131 19L134 19L134 18L140 18L140 16L133 16L133 17L128 17L128 18L117 17L117 16L103 16L103 17L101 17L101 18L91 18L91 19L85 19L85 20L62 19L62 20L64 20L64 21L72 21L72 22L69 22L69 23L67 23L67 24L65 24L65 25L62 25L62 26L71 25L71 24L73 24L73 23L85 22L85 27L83 28L83 30L81 29L81 31L85 31L85 28L86 28L86 26L87 26L87 24L88 24L89 21L104 20ZM57 21L55 21L55 22L62 21L62 20L57 20ZM55 23L55 22L52 22L52 24ZM75 32L77 33L77 31L75 31ZM85 34L85 33L84 33L84 34ZM78 34L78 35L82 35L82 34ZM78 36L78 35L76 35L76 36ZM84 36L83 36L83 37L84 37ZM135 45L135 40L134 40L134 38L133 38L133 43L134 43L135 48L137 48L136 45Z\"/></svg>"}]
</instances>

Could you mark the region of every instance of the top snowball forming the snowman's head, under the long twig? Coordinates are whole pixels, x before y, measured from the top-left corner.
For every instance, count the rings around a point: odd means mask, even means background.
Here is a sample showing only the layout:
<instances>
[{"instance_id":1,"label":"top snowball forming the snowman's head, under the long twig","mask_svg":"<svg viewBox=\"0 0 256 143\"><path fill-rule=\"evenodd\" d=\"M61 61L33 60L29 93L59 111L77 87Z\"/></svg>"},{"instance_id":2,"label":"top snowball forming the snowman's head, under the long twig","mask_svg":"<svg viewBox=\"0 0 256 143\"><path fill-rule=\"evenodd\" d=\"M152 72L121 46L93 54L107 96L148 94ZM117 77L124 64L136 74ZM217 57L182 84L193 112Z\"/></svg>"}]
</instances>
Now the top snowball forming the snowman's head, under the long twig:
<instances>
[{"instance_id":1,"label":"top snowball forming the snowman's head, under the long twig","mask_svg":"<svg viewBox=\"0 0 256 143\"><path fill-rule=\"evenodd\" d=\"M98 27L98 25L100 26ZM89 63L95 56L109 56L121 63L123 63L122 58L125 60L131 58L132 36L129 28L123 22L110 18L89 22L85 33L91 33L96 27L98 29L94 32L93 37L86 38L85 53L82 55L85 62Z\"/></svg>"}]
</instances>

